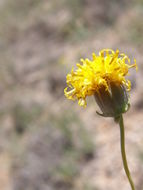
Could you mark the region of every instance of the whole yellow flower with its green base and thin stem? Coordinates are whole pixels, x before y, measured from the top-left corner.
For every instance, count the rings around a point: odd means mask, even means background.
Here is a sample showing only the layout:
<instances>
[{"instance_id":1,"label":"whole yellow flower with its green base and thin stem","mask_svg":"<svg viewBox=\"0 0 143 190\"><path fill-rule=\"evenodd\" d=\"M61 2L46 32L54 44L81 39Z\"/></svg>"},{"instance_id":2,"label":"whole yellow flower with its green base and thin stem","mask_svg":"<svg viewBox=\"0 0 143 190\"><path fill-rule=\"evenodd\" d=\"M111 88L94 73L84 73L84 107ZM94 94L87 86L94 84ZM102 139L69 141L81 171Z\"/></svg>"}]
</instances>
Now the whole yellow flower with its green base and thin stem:
<instances>
[{"instance_id":1,"label":"whole yellow flower with its green base and thin stem","mask_svg":"<svg viewBox=\"0 0 143 190\"><path fill-rule=\"evenodd\" d=\"M94 96L101 112L98 115L112 117L120 126L121 155L125 173L135 190L128 168L125 152L125 132L122 114L130 108L128 91L131 82L126 79L129 69L135 67L136 60L131 64L130 59L119 50L103 49L99 55L93 53L92 60L81 59L77 69L67 75L65 96L70 100L78 100L80 106L86 107L86 97Z\"/></svg>"}]
</instances>

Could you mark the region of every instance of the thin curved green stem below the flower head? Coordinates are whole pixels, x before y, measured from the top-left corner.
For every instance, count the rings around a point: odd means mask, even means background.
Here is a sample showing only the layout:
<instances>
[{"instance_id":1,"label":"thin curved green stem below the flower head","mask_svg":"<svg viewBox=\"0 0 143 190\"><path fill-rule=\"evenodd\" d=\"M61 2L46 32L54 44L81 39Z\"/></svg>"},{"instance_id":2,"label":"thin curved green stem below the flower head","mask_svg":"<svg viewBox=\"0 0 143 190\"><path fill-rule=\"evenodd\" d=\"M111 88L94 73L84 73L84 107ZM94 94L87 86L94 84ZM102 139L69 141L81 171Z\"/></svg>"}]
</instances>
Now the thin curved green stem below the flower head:
<instances>
[{"instance_id":1,"label":"thin curved green stem below the flower head","mask_svg":"<svg viewBox=\"0 0 143 190\"><path fill-rule=\"evenodd\" d=\"M123 122L123 116L122 115L120 116L120 119L119 119L119 125L120 125L121 154L122 154L123 166L124 166L124 170L126 172L126 175L128 177L129 183L131 185L131 188L132 188L132 190L135 190L135 186L134 186L133 180L131 178L131 174L130 174L127 159L126 159L125 132L124 132L124 122Z\"/></svg>"}]
</instances>

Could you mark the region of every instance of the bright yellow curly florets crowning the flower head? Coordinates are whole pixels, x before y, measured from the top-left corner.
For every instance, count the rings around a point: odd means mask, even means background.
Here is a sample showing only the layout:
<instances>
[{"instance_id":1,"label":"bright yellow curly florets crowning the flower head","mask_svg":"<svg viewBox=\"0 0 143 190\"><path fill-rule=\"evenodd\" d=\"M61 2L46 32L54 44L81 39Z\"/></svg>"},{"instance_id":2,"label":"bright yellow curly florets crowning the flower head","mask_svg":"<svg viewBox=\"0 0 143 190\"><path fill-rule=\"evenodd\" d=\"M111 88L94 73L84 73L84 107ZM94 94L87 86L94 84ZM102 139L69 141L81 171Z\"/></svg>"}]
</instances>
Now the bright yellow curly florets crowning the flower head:
<instances>
[{"instance_id":1,"label":"bright yellow curly florets crowning the flower head","mask_svg":"<svg viewBox=\"0 0 143 190\"><path fill-rule=\"evenodd\" d=\"M77 63L77 69L72 69L67 75L67 85L64 93L68 99L78 100L80 106L86 106L86 96L97 93L101 87L109 89L111 83L124 85L127 90L131 89L131 82L125 78L129 75L130 68L137 69L136 60L130 63L125 54L119 54L111 49L103 49L99 55L93 53L93 59L81 59Z\"/></svg>"}]
</instances>

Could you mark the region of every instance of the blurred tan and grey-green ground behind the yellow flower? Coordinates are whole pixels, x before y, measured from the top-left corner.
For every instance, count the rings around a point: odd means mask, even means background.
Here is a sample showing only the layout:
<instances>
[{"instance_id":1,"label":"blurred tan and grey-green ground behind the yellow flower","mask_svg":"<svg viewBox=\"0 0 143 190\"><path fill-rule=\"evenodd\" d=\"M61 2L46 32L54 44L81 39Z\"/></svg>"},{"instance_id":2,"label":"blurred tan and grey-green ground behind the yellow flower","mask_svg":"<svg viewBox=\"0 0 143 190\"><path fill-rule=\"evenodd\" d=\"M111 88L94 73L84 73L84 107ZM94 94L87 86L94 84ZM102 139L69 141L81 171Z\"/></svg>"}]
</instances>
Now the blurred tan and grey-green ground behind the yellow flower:
<instances>
[{"instance_id":1,"label":"blurred tan and grey-green ground behind the yellow flower","mask_svg":"<svg viewBox=\"0 0 143 190\"><path fill-rule=\"evenodd\" d=\"M79 59L117 48L137 59L126 150L143 190L143 0L0 0L0 189L130 190L119 127L64 97Z\"/></svg>"}]
</instances>

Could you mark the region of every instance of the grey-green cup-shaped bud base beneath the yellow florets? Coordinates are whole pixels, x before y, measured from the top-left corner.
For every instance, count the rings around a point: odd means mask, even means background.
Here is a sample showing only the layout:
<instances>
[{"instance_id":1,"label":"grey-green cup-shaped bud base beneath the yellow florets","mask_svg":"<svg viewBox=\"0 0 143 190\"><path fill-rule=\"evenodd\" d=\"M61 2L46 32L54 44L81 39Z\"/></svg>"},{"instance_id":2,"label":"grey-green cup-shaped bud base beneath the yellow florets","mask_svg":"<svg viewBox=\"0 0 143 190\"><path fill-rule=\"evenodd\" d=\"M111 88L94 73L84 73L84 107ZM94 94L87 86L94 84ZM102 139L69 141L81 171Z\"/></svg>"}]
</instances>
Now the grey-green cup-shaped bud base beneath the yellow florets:
<instances>
[{"instance_id":1,"label":"grey-green cup-shaped bud base beneath the yellow florets","mask_svg":"<svg viewBox=\"0 0 143 190\"><path fill-rule=\"evenodd\" d=\"M94 95L104 117L118 117L129 109L129 99L124 85L110 83L109 88L101 87Z\"/></svg>"}]
</instances>

